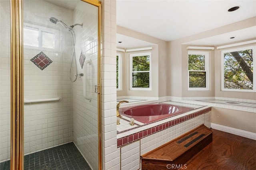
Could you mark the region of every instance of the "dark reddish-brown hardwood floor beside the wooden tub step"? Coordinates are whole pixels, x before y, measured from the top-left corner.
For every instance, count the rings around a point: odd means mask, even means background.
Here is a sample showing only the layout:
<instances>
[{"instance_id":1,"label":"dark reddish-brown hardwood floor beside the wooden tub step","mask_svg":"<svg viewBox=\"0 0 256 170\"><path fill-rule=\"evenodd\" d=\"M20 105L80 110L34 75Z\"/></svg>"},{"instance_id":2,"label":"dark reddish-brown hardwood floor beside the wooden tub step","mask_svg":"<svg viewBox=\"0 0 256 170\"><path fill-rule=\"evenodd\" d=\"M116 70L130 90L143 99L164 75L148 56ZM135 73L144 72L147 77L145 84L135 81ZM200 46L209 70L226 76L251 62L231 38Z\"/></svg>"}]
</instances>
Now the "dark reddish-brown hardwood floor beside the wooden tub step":
<instances>
[{"instance_id":1,"label":"dark reddish-brown hardwood floor beside the wooden tub step","mask_svg":"<svg viewBox=\"0 0 256 170\"><path fill-rule=\"evenodd\" d=\"M213 141L187 162L186 170L256 170L256 141L212 129Z\"/></svg>"}]
</instances>

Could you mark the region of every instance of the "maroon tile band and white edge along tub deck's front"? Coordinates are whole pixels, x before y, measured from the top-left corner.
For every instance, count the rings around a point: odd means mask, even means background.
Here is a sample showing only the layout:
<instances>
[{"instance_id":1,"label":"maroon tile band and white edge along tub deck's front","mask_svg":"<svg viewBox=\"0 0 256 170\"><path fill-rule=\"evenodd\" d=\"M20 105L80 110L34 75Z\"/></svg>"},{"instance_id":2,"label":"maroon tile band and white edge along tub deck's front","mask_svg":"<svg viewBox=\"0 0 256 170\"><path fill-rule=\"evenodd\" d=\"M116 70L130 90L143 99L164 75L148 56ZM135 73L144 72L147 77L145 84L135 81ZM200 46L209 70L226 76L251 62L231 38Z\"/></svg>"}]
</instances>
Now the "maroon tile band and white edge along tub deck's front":
<instances>
[{"instance_id":1,"label":"maroon tile band and white edge along tub deck's front","mask_svg":"<svg viewBox=\"0 0 256 170\"><path fill-rule=\"evenodd\" d=\"M173 102L166 102L166 103L170 104ZM208 113L210 111L211 111L211 107L204 106L204 107L195 109L193 111L188 111L188 112L182 113L180 115L169 117L167 119L163 119L163 120L156 121L156 122L149 123L149 124L136 126L136 127L133 127L132 129L128 129L127 131L122 131L122 133L118 132L117 147L121 147L121 146L127 145L129 143L132 143L134 141L138 141L144 137L147 137L149 135L152 135L152 134L162 131L164 129L168 129L170 127L178 125L179 123L183 123L185 121L188 121L190 119L193 119L195 117L198 117L200 115ZM125 123L125 122L121 122L120 125L122 125L122 123ZM138 121L135 121L135 123L138 123ZM126 126L126 125L124 125L124 126ZM208 124L206 126L209 127L210 125ZM117 130L119 130L119 129L121 129L121 128L117 127Z\"/></svg>"}]
</instances>

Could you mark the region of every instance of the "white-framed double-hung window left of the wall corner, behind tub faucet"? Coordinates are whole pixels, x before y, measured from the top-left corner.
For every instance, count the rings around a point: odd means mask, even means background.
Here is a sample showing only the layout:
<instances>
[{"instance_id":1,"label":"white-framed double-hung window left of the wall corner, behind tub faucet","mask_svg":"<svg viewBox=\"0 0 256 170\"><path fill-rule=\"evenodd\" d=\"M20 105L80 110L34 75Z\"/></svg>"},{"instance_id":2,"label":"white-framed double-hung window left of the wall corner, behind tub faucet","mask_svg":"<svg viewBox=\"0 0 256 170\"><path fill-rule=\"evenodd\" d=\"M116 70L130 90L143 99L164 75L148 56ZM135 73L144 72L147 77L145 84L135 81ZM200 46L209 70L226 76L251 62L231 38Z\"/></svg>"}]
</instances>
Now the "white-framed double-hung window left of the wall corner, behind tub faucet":
<instances>
[{"instance_id":1,"label":"white-framed double-hung window left of the wall corner, behind tub faucet","mask_svg":"<svg viewBox=\"0 0 256 170\"><path fill-rule=\"evenodd\" d=\"M151 90L150 61L151 53L130 55L131 90Z\"/></svg>"}]
</instances>

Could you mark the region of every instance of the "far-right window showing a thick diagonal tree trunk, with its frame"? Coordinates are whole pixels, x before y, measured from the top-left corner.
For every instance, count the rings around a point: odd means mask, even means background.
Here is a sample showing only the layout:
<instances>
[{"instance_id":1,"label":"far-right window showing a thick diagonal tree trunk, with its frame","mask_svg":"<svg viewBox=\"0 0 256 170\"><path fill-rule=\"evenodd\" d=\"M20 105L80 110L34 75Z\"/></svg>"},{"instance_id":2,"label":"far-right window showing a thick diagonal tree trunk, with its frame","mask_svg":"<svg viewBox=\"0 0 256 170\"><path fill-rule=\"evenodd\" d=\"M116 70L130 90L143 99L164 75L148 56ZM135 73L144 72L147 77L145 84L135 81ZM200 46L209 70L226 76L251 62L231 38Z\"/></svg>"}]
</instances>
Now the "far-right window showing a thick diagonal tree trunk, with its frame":
<instances>
[{"instance_id":1,"label":"far-right window showing a thick diagonal tree trunk, with its frame","mask_svg":"<svg viewBox=\"0 0 256 170\"><path fill-rule=\"evenodd\" d=\"M254 50L255 47L247 47L222 51L222 90L256 91Z\"/></svg>"}]
</instances>

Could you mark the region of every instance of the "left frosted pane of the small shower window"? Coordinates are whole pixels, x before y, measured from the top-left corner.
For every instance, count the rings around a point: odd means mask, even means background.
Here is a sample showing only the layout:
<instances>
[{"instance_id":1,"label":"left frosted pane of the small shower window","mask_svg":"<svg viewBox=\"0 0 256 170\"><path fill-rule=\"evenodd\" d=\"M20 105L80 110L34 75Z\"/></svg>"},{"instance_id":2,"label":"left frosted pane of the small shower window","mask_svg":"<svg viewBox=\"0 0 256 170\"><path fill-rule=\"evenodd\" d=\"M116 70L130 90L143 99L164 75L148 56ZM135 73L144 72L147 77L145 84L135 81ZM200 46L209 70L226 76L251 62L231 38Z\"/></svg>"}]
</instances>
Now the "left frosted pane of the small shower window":
<instances>
[{"instance_id":1,"label":"left frosted pane of the small shower window","mask_svg":"<svg viewBox=\"0 0 256 170\"><path fill-rule=\"evenodd\" d=\"M38 47L38 30L24 28L24 45Z\"/></svg>"}]
</instances>

